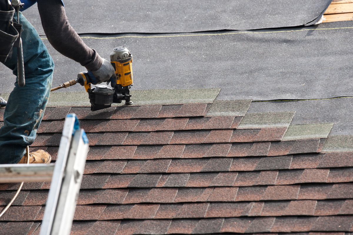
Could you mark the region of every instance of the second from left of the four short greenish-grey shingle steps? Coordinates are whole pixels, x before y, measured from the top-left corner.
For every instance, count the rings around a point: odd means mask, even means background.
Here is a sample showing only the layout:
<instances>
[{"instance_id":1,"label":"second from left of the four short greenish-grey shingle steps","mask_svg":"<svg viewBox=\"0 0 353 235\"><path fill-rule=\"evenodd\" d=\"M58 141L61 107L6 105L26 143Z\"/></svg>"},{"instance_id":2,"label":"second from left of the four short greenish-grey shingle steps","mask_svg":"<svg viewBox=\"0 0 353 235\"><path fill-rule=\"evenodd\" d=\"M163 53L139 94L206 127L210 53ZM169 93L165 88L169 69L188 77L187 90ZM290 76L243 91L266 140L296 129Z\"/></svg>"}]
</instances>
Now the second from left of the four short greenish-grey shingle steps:
<instances>
[{"instance_id":1,"label":"second from left of the four short greenish-grey shingle steps","mask_svg":"<svg viewBox=\"0 0 353 235\"><path fill-rule=\"evenodd\" d=\"M291 124L295 112L246 113L237 129L286 127Z\"/></svg>"}]
</instances>

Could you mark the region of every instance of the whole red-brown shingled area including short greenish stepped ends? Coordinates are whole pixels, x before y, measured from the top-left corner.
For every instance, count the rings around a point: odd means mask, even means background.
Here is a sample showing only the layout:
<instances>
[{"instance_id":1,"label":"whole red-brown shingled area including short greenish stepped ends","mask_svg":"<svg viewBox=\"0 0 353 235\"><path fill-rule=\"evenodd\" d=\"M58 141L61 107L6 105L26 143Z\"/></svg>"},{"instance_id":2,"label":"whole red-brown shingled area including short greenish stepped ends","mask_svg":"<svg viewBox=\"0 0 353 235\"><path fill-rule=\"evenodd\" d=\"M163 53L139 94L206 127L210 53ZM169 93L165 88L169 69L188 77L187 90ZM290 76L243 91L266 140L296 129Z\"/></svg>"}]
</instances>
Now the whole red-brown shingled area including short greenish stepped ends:
<instances>
[{"instance_id":1,"label":"whole red-brown shingled area including short greenish stepped ends","mask_svg":"<svg viewBox=\"0 0 353 235\"><path fill-rule=\"evenodd\" d=\"M55 160L76 113L90 150L75 235L353 231L352 136L291 125L295 112L246 113L250 104L48 107L31 150ZM17 187L0 185L2 207ZM0 234L38 234L49 187L25 183Z\"/></svg>"}]
</instances>

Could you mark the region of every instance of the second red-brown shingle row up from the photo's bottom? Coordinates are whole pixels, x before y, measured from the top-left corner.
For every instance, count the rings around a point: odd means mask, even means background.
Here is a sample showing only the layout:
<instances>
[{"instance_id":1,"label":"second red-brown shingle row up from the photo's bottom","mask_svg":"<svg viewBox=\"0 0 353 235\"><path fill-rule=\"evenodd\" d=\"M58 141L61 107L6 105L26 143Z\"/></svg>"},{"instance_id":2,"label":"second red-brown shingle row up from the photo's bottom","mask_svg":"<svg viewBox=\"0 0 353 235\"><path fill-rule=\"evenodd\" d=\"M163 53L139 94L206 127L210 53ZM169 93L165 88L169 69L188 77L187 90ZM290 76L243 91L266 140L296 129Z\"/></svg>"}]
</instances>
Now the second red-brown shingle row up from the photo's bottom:
<instances>
[{"instance_id":1,"label":"second red-brown shingle row up from the photo's bottom","mask_svg":"<svg viewBox=\"0 0 353 235\"><path fill-rule=\"evenodd\" d=\"M78 201L78 204L80 200ZM75 220L176 219L254 216L349 215L353 200L292 200L281 202L77 205ZM12 206L1 221L38 221L42 206Z\"/></svg>"}]
</instances>

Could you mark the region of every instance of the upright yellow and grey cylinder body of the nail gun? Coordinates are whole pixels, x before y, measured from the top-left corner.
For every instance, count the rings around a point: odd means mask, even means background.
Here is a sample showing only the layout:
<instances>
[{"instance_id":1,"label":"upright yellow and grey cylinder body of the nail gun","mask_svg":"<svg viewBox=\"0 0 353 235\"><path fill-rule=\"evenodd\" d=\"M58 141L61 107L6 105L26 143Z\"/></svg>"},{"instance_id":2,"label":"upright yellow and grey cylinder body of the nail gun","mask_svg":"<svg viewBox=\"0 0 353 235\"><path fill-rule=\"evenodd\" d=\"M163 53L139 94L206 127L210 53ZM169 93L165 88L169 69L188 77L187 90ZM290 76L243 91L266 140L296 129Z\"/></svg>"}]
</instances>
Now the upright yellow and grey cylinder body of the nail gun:
<instances>
[{"instance_id":1,"label":"upright yellow and grey cylinder body of the nail gun","mask_svg":"<svg viewBox=\"0 0 353 235\"><path fill-rule=\"evenodd\" d=\"M132 85L132 55L126 47L116 47L110 53L110 63L115 69L116 84Z\"/></svg>"}]
</instances>

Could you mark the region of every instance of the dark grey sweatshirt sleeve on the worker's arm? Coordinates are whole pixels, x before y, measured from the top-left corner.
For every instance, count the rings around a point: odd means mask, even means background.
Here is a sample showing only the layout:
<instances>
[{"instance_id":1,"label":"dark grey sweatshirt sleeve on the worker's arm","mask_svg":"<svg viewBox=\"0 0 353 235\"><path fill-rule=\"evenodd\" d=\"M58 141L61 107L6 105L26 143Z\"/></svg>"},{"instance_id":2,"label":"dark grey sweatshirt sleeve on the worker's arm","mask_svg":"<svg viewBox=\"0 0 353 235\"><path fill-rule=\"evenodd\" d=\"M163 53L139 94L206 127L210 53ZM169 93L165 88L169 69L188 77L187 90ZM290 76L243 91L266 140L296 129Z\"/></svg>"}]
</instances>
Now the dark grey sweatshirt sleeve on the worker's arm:
<instances>
[{"instance_id":1,"label":"dark grey sweatshirt sleeve on the worker's arm","mask_svg":"<svg viewBox=\"0 0 353 235\"><path fill-rule=\"evenodd\" d=\"M79 62L89 71L98 70L103 59L89 48L67 21L64 6L58 0L38 0L44 32L55 50Z\"/></svg>"}]
</instances>

